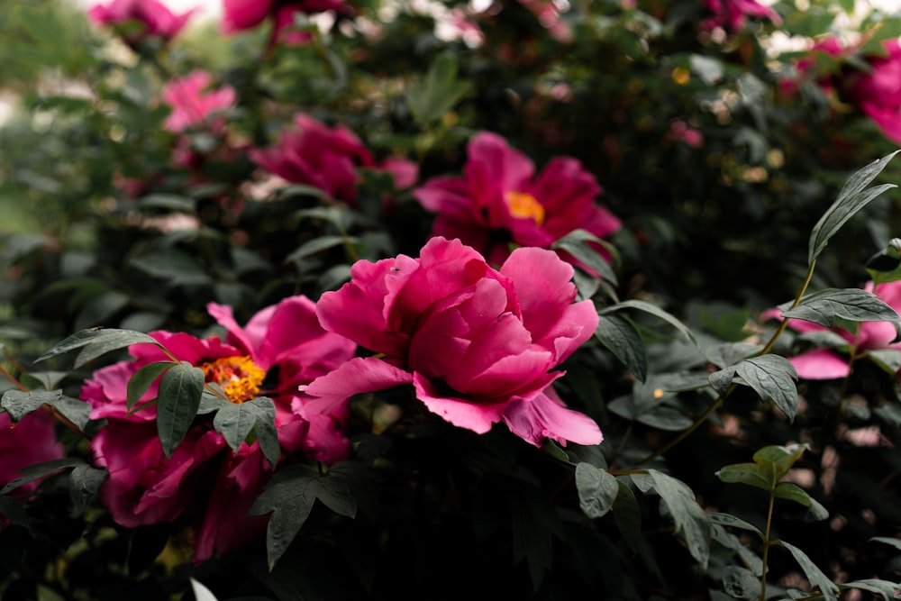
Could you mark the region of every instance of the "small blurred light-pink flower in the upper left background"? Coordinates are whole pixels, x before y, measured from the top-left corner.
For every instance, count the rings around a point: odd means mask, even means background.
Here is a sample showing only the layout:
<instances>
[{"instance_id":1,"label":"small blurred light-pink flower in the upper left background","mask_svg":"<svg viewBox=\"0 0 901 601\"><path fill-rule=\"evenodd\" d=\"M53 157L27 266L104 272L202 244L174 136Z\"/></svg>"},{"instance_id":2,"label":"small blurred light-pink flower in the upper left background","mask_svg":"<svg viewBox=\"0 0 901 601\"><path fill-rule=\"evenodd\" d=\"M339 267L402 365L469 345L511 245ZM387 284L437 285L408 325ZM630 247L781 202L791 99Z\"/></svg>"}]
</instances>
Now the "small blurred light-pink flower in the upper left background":
<instances>
[{"instance_id":1,"label":"small blurred light-pink flower in the upper left background","mask_svg":"<svg viewBox=\"0 0 901 601\"><path fill-rule=\"evenodd\" d=\"M162 98L172 107L164 127L169 132L184 132L187 129L208 123L212 114L231 108L236 94L231 86L211 90L213 77L205 71L193 71L186 77L173 79L163 87ZM209 123L214 130L222 130L224 121Z\"/></svg>"}]
</instances>

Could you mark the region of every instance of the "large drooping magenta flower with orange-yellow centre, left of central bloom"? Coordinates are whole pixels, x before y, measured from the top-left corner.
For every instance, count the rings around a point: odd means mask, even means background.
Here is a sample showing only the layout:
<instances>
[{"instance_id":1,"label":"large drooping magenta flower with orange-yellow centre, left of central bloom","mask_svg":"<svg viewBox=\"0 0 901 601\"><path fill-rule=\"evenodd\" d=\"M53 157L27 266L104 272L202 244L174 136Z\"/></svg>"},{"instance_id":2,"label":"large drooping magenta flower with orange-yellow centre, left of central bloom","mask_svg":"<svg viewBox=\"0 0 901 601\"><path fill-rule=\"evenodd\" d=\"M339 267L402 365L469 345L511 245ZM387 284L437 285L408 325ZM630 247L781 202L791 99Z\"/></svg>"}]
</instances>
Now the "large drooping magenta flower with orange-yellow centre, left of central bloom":
<instances>
[{"instance_id":1,"label":"large drooping magenta flower with orange-yellow centre, left of central bloom","mask_svg":"<svg viewBox=\"0 0 901 601\"><path fill-rule=\"evenodd\" d=\"M225 341L180 332L150 336L177 360L202 369L206 381L219 384L233 403L271 398L283 451L330 463L345 459L349 448L343 430L349 415L317 411L294 401L298 386L350 359L356 345L325 332L314 303L305 296L263 309L243 328L231 308L210 304L208 310L228 332ZM170 522L184 514L196 526L198 561L259 535L267 518L247 516L270 473L259 442L243 443L232 451L211 423L201 421L167 458L159 442L155 405L129 414L126 398L128 381L138 369L168 357L151 344L132 345L129 351L134 360L98 369L81 392L92 407L92 419L107 420L92 440L91 451L96 464L109 472L100 498L114 520L132 528ZM157 389L154 383L140 403L155 398Z\"/></svg>"}]
</instances>

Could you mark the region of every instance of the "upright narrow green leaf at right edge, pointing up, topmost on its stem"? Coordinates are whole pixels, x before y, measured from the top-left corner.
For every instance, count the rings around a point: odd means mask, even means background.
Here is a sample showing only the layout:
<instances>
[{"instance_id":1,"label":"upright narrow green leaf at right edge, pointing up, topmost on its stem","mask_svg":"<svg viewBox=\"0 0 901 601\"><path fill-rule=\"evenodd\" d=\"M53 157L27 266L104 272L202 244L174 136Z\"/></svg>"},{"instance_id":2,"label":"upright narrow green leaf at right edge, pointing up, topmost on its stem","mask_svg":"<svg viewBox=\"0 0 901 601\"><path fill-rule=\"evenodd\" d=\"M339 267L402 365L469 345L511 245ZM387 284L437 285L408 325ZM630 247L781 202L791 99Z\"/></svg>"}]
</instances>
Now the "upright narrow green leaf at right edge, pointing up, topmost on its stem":
<instances>
[{"instance_id":1,"label":"upright narrow green leaf at right edge, pointing up, topmost on its stem","mask_svg":"<svg viewBox=\"0 0 901 601\"><path fill-rule=\"evenodd\" d=\"M829 239L838 232L842 225L847 223L854 214L860 209L868 205L870 201L885 192L886 190L896 187L894 184L884 184L882 186L867 189L869 183L875 179L882 169L886 167L888 161L893 159L901 150L895 150L891 154L882 159L874 160L868 166L860 169L851 176L839 192L838 198L832 206L820 217L820 220L814 226L814 230L810 233L809 250L807 253L808 264L813 264L820 253L823 252Z\"/></svg>"}]
</instances>

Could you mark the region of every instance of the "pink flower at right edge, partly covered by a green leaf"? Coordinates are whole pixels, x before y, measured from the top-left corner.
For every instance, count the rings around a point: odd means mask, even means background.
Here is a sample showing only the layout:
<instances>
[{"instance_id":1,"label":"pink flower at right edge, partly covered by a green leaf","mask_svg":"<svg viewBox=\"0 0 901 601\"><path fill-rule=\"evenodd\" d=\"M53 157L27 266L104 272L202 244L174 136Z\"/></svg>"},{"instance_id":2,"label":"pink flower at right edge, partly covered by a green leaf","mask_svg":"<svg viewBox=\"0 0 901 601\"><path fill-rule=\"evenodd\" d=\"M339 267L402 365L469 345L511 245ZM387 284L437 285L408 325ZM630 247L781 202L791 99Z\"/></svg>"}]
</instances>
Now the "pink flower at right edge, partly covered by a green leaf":
<instances>
[{"instance_id":1,"label":"pink flower at right edge, partly covered by a green leaf","mask_svg":"<svg viewBox=\"0 0 901 601\"><path fill-rule=\"evenodd\" d=\"M879 284L873 289L869 282L864 289L873 292L880 300L894 309L901 310L901 281ZM762 315L764 318L778 317L778 309L771 309ZM796 332L823 332L828 330L822 325L805 322L800 319L792 319L788 327ZM857 326L857 333L852 334L842 328L833 328L833 332L847 341L847 349L813 349L802 352L795 357L788 358L795 367L798 378L804 379L833 379L845 378L851 373L851 360L849 352L860 355L867 351L882 349L894 349L901 351L901 342L895 342L897 330L891 322L861 322Z\"/></svg>"}]
</instances>

